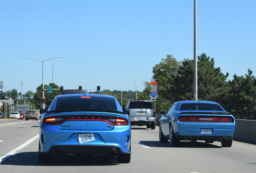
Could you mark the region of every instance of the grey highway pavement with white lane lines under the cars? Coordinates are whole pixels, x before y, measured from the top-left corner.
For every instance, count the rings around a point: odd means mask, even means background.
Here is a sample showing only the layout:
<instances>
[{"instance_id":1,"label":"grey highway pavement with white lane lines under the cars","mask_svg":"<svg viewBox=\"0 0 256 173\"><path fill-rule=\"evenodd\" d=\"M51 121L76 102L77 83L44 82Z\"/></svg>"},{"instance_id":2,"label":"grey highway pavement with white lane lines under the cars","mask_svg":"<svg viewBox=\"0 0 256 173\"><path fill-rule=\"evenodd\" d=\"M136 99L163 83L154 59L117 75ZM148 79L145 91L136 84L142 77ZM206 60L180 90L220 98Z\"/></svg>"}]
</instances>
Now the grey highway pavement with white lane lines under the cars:
<instances>
[{"instance_id":1,"label":"grey highway pavement with white lane lines under the cars","mask_svg":"<svg viewBox=\"0 0 256 173\"><path fill-rule=\"evenodd\" d=\"M179 147L160 143L159 128L132 126L131 162L119 164L114 156L54 156L52 163L38 161L39 121L0 120L1 173L254 173L256 145L184 141Z\"/></svg>"}]
</instances>

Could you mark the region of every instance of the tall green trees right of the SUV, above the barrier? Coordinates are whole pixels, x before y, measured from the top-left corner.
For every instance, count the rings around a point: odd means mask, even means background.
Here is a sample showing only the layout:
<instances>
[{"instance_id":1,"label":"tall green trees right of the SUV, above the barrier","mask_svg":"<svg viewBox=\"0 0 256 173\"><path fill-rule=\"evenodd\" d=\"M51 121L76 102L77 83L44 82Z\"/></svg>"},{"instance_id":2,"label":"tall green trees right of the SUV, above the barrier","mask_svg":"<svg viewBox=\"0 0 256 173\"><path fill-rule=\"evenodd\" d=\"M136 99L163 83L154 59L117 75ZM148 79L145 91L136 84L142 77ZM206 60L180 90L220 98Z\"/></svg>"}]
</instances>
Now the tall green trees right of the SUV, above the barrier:
<instances>
[{"instance_id":1,"label":"tall green trees right of the SUV, above the barrier","mask_svg":"<svg viewBox=\"0 0 256 173\"><path fill-rule=\"evenodd\" d=\"M223 74L210 56L198 56L198 101L219 103L236 119L256 119L256 79L252 70L245 76ZM194 100L194 60L177 61L167 55L153 67L153 81L157 82L158 98L155 109L167 111L176 101ZM150 84L144 93L149 93ZM147 95L145 95L147 96Z\"/></svg>"}]
</instances>

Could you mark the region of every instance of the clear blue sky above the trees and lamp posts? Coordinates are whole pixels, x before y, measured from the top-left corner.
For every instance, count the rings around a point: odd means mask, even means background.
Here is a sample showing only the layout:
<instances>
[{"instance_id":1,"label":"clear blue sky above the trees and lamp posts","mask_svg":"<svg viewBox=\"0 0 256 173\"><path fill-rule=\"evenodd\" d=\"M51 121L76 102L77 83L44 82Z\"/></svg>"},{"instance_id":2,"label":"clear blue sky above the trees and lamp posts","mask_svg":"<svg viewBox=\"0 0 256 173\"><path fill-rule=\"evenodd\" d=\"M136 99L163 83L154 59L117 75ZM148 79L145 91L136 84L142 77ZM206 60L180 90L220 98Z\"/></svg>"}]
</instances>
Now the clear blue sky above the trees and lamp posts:
<instances>
[{"instance_id":1,"label":"clear blue sky above the trees and lamp posts","mask_svg":"<svg viewBox=\"0 0 256 173\"><path fill-rule=\"evenodd\" d=\"M256 1L197 0L197 53L233 75L256 76ZM42 83L64 89L143 91L167 54L193 59L194 0L3 0L0 2L0 80L4 89L36 92ZM116 87L116 88L114 88Z\"/></svg>"}]
</instances>

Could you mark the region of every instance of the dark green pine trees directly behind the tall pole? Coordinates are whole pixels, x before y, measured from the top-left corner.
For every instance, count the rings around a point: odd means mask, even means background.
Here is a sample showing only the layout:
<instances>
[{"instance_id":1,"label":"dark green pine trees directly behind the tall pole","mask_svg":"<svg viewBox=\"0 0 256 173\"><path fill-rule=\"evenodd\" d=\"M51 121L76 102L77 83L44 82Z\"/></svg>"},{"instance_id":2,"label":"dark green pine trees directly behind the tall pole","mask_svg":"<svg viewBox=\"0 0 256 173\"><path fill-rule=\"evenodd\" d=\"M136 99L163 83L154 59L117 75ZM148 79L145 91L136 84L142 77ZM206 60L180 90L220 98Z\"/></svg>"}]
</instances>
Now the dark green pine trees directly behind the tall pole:
<instances>
[{"instance_id":1,"label":"dark green pine trees directly behind the tall pole","mask_svg":"<svg viewBox=\"0 0 256 173\"><path fill-rule=\"evenodd\" d=\"M198 56L198 100L221 101L221 93L228 73L224 75L220 68L215 68L214 59L205 53ZM174 76L173 87L176 101L194 100L194 60L184 59Z\"/></svg>"}]
</instances>

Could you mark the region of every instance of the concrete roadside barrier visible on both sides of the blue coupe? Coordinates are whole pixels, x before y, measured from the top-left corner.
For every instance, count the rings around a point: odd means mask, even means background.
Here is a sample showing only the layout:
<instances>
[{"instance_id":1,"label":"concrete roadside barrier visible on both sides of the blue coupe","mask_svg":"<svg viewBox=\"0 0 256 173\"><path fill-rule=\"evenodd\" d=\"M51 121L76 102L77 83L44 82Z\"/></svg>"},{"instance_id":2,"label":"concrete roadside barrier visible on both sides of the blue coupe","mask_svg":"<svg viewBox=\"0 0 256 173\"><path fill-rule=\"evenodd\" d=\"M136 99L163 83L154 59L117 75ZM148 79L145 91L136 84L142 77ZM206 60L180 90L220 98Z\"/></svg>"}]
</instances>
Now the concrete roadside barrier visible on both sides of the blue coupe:
<instances>
[{"instance_id":1,"label":"concrete roadside barrier visible on both sides of the blue coupe","mask_svg":"<svg viewBox=\"0 0 256 173\"><path fill-rule=\"evenodd\" d=\"M159 119L162 115L157 115L156 125L159 126ZM256 144L256 120L235 119L235 133L233 139L237 141Z\"/></svg>"}]
</instances>

